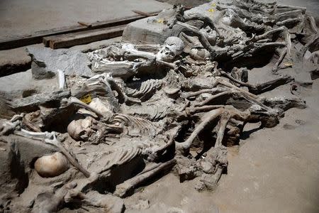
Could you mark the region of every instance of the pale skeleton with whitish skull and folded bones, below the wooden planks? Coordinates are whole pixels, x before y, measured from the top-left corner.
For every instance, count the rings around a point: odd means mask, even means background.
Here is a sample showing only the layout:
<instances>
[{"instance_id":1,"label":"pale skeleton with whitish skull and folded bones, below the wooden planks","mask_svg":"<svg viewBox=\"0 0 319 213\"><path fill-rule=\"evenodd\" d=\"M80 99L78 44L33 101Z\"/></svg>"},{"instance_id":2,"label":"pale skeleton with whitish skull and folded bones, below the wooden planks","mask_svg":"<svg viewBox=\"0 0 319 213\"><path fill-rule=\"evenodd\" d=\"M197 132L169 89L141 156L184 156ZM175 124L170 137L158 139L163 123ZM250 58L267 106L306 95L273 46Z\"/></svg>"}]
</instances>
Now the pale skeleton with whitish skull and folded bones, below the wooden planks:
<instances>
[{"instance_id":1,"label":"pale skeleton with whitish skull and folded bones, below the wooden planks","mask_svg":"<svg viewBox=\"0 0 319 213\"><path fill-rule=\"evenodd\" d=\"M169 37L162 48L155 54L137 50L134 45L111 45L103 50L88 53L92 62L92 71L96 73L111 73L113 77L124 80L138 74L139 70L166 66L175 68L170 63L184 49L184 43L179 38ZM145 68L146 67L146 68Z\"/></svg>"}]
</instances>

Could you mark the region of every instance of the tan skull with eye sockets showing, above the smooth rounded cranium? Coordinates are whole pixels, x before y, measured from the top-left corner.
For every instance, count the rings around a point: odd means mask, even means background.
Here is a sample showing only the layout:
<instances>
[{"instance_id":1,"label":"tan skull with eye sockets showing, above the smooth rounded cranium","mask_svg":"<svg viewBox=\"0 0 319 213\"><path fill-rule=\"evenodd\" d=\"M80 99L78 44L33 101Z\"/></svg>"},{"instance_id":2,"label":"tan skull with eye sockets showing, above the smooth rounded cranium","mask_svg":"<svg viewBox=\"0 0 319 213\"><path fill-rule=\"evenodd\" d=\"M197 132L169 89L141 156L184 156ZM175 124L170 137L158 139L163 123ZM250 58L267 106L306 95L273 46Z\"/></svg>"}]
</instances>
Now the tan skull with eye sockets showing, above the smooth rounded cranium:
<instances>
[{"instance_id":1,"label":"tan skull with eye sockets showing, above the smooth rounded cranium","mask_svg":"<svg viewBox=\"0 0 319 213\"><path fill-rule=\"evenodd\" d=\"M95 124L96 120L89 116L85 119L73 120L67 126L67 132L75 141L89 141L94 135Z\"/></svg>"}]
</instances>

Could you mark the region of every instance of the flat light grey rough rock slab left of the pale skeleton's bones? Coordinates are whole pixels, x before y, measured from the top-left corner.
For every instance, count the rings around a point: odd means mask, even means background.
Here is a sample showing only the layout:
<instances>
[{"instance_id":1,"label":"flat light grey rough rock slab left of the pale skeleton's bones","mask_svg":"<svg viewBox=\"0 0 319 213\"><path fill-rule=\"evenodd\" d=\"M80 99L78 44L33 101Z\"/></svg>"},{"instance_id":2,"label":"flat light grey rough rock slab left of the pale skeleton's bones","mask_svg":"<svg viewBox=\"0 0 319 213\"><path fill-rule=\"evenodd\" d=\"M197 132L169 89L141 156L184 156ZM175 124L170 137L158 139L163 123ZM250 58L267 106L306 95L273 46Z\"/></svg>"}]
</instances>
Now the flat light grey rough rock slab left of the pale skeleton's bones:
<instances>
[{"instance_id":1,"label":"flat light grey rough rock slab left of the pale skeleton's bones","mask_svg":"<svg viewBox=\"0 0 319 213\"><path fill-rule=\"evenodd\" d=\"M91 77L90 61L85 53L77 50L52 50L50 48L28 47L27 51L32 59L32 76L36 80L55 77L57 70L65 75L79 75Z\"/></svg>"}]
</instances>

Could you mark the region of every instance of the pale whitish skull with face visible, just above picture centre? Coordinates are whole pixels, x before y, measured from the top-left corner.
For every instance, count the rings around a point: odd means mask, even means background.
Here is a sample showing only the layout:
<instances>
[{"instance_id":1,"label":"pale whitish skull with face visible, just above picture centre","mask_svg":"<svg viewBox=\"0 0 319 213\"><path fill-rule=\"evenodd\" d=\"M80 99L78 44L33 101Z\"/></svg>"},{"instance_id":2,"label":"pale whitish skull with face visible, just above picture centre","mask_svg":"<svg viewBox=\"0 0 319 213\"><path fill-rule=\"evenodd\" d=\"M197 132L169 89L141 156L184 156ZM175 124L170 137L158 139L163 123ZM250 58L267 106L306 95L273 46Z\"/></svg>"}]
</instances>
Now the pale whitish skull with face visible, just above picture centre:
<instances>
[{"instance_id":1,"label":"pale whitish skull with face visible, just above picture centre","mask_svg":"<svg viewBox=\"0 0 319 213\"><path fill-rule=\"evenodd\" d=\"M157 60L162 60L165 62L170 62L174 60L174 58L181 54L184 50L184 42L181 38L178 37L169 37L165 40L164 45L156 54Z\"/></svg>"}]
</instances>

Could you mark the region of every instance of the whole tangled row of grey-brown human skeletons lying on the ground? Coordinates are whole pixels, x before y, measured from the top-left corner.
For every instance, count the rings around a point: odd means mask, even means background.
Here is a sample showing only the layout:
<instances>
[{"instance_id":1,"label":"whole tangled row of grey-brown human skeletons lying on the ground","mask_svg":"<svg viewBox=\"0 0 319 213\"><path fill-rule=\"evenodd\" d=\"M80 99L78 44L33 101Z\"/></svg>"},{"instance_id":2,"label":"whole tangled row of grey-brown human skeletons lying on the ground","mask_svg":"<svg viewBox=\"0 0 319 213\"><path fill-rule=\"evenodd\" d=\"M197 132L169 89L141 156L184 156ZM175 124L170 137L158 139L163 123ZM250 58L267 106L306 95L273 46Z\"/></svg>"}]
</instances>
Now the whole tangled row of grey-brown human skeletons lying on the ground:
<instances>
[{"instance_id":1,"label":"whole tangled row of grey-brown human skeletons lying on the ground","mask_svg":"<svg viewBox=\"0 0 319 213\"><path fill-rule=\"evenodd\" d=\"M11 100L16 115L0 123L1 155L12 161L1 168L0 209L121 212L118 197L169 171L213 190L245 124L270 128L287 109L306 107L259 95L293 77L250 84L245 68L279 54L277 74L315 53L318 28L306 9L234 0L216 10L210 18L174 6L155 17L172 35L163 45L94 50L87 53L93 77L58 70L60 90ZM291 50L295 43L302 53Z\"/></svg>"}]
</instances>

